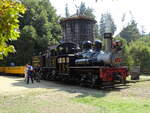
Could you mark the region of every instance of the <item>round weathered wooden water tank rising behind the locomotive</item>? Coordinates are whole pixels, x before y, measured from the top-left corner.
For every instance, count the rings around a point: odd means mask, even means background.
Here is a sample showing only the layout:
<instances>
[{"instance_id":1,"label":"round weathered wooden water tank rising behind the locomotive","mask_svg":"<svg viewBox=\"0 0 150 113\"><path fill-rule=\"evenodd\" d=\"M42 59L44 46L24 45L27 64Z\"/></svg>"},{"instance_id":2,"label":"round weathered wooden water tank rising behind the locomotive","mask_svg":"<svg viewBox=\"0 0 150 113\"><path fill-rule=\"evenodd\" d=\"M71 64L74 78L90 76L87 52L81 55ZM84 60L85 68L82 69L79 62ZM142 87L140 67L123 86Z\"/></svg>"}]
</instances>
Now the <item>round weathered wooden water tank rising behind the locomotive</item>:
<instances>
[{"instance_id":1,"label":"round weathered wooden water tank rising behind the locomotive","mask_svg":"<svg viewBox=\"0 0 150 113\"><path fill-rule=\"evenodd\" d=\"M81 45L83 41L94 41L94 25L96 21L85 16L74 16L60 21L63 42L74 42Z\"/></svg>"}]
</instances>

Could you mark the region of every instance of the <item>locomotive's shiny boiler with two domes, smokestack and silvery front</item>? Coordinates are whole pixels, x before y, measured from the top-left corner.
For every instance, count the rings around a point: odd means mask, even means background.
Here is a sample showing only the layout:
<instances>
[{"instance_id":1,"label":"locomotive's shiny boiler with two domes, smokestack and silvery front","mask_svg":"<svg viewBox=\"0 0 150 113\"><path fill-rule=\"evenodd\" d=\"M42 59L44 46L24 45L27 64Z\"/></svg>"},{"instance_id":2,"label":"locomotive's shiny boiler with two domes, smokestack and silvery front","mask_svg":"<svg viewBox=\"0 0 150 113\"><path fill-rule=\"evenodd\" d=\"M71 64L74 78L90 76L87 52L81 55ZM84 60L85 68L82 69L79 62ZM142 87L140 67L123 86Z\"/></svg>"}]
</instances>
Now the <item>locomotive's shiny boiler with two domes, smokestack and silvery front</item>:
<instances>
[{"instance_id":1,"label":"locomotive's shiny boiler with two domes, smokestack and silvery front","mask_svg":"<svg viewBox=\"0 0 150 113\"><path fill-rule=\"evenodd\" d=\"M107 42L105 50L102 50L102 42L99 40L94 42L93 48L91 41L84 42L83 52L78 55L80 59L75 61L76 65L115 66L119 64L121 62L121 54L119 54L121 49L115 50L116 47L110 46L112 45L111 33L105 33L104 40Z\"/></svg>"}]
</instances>

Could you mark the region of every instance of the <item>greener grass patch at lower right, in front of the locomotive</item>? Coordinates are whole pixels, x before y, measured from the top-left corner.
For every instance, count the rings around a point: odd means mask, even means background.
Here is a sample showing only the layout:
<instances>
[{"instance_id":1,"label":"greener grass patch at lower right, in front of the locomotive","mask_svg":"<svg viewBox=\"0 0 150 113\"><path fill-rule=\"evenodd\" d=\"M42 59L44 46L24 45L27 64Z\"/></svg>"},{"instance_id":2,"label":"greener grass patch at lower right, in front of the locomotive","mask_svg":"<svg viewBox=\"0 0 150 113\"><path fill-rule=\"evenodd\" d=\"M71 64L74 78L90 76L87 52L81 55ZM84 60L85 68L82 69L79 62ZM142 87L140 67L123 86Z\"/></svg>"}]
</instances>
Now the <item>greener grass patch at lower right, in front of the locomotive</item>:
<instances>
[{"instance_id":1,"label":"greener grass patch at lower right, in front of the locomotive","mask_svg":"<svg viewBox=\"0 0 150 113\"><path fill-rule=\"evenodd\" d=\"M150 90L150 81L148 81L150 77L141 76L140 78L138 82L131 83L130 87L133 87L133 89L126 90L126 92L112 91L105 94L106 96L101 96L101 93L104 93L101 91L97 97L92 95L79 96L73 98L73 101L97 107L97 113L150 113L150 98L142 97L141 92L143 89ZM127 95L124 95L124 93Z\"/></svg>"}]
</instances>

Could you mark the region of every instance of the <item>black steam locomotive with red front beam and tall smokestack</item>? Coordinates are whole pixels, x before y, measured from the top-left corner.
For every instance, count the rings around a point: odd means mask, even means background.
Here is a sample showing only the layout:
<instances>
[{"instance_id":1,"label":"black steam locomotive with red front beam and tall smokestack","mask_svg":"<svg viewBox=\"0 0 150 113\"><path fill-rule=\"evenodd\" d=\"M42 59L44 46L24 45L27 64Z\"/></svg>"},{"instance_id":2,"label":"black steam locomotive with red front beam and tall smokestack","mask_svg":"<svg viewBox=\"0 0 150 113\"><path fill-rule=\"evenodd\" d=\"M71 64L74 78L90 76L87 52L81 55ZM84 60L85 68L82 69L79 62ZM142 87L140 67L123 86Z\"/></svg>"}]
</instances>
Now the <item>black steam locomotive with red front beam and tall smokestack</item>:
<instances>
[{"instance_id":1,"label":"black steam locomotive with red front beam and tall smokestack","mask_svg":"<svg viewBox=\"0 0 150 113\"><path fill-rule=\"evenodd\" d=\"M61 43L55 49L33 60L33 65L41 65L42 78L59 80L81 85L110 85L115 81L126 82L127 68L121 64L121 43L113 42L111 33L104 34L105 50L102 42L83 42L82 50L75 43ZM93 45L93 46L92 46ZM36 57L37 58L37 57ZM34 58L35 59L35 58Z\"/></svg>"}]
</instances>

